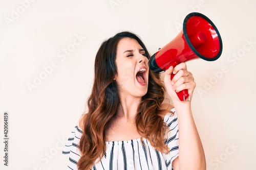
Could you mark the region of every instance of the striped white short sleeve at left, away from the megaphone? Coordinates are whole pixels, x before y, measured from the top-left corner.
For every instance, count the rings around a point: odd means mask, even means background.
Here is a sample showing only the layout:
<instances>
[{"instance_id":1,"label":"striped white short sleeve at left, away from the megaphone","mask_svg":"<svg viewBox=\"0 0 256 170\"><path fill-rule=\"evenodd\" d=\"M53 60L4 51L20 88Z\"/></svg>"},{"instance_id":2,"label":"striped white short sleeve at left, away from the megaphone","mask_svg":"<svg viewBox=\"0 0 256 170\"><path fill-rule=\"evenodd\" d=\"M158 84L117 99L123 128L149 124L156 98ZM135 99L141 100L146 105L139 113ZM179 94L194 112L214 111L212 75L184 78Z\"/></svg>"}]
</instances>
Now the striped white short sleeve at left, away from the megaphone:
<instances>
[{"instance_id":1,"label":"striped white short sleeve at left, away from the megaphone","mask_svg":"<svg viewBox=\"0 0 256 170\"><path fill-rule=\"evenodd\" d=\"M77 169L77 162L80 159L79 143L82 135L81 129L76 126L71 132L68 141L63 148L62 154L69 157L67 169Z\"/></svg>"}]
</instances>

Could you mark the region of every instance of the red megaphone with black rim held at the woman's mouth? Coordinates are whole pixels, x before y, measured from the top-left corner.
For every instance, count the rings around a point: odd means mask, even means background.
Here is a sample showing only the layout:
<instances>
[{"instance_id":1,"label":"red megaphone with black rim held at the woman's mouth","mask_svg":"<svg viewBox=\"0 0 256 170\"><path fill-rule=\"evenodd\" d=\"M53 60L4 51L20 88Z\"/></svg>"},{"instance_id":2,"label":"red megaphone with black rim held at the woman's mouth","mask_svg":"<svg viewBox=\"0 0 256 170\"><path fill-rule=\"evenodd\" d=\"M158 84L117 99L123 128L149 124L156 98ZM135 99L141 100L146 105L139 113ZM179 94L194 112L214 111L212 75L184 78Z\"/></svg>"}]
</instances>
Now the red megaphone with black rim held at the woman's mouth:
<instances>
[{"instance_id":1,"label":"red megaphone with black rim held at the woman's mouth","mask_svg":"<svg viewBox=\"0 0 256 170\"><path fill-rule=\"evenodd\" d=\"M154 72L162 72L170 66L193 59L217 60L222 53L222 40L212 21L197 12L188 14L183 22L183 30L168 44L160 48L149 60ZM171 76L173 79L174 75ZM177 93L181 101L188 98L187 90Z\"/></svg>"}]
</instances>

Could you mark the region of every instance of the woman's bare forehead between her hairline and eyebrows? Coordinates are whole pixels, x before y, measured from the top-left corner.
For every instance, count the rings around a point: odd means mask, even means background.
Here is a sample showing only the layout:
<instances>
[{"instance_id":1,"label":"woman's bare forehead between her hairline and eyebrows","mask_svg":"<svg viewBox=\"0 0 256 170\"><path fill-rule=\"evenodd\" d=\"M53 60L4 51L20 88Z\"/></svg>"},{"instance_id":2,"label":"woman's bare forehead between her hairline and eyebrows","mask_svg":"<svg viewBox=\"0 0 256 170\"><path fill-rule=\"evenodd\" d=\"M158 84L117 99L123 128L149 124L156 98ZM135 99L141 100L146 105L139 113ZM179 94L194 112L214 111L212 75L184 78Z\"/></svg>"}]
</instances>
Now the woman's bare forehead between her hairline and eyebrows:
<instances>
[{"instance_id":1,"label":"woman's bare forehead between her hairline and eyebrows","mask_svg":"<svg viewBox=\"0 0 256 170\"><path fill-rule=\"evenodd\" d=\"M125 50L136 50L142 49L141 45L136 39L125 37L122 38L117 44L117 52L125 51Z\"/></svg>"}]
</instances>

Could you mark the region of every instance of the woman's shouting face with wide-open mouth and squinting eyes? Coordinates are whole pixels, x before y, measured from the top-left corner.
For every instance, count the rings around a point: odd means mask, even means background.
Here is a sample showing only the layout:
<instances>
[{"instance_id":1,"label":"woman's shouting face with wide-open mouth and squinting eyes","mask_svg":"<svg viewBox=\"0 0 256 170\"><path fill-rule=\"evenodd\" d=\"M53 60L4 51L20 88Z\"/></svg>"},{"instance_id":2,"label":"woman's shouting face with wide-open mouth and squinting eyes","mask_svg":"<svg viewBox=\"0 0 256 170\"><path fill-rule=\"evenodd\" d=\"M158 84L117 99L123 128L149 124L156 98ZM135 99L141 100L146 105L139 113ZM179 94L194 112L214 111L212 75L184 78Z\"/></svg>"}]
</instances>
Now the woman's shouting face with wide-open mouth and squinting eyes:
<instances>
[{"instance_id":1,"label":"woman's shouting face with wide-open mouth and squinting eyes","mask_svg":"<svg viewBox=\"0 0 256 170\"><path fill-rule=\"evenodd\" d=\"M148 59L133 38L122 38L117 45L116 81L120 96L142 97L148 87Z\"/></svg>"}]
</instances>

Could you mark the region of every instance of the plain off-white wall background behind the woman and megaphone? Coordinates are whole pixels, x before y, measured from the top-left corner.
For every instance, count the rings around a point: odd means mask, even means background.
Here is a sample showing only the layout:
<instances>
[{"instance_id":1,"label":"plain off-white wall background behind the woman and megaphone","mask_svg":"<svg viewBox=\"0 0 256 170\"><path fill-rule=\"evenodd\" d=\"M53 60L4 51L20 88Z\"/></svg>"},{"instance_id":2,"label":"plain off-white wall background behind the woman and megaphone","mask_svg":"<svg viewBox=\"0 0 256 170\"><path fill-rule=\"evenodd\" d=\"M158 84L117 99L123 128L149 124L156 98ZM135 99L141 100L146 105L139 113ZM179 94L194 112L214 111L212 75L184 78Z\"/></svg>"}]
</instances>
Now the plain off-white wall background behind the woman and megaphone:
<instances>
[{"instance_id":1,"label":"plain off-white wall background behind the woman and megaphone","mask_svg":"<svg viewBox=\"0 0 256 170\"><path fill-rule=\"evenodd\" d=\"M223 40L218 60L187 62L207 169L255 169L255 7L253 0L0 1L0 168L66 169L61 149L86 109L101 42L128 30L154 54L181 31L188 13L200 12ZM35 85L39 76L44 80Z\"/></svg>"}]
</instances>

